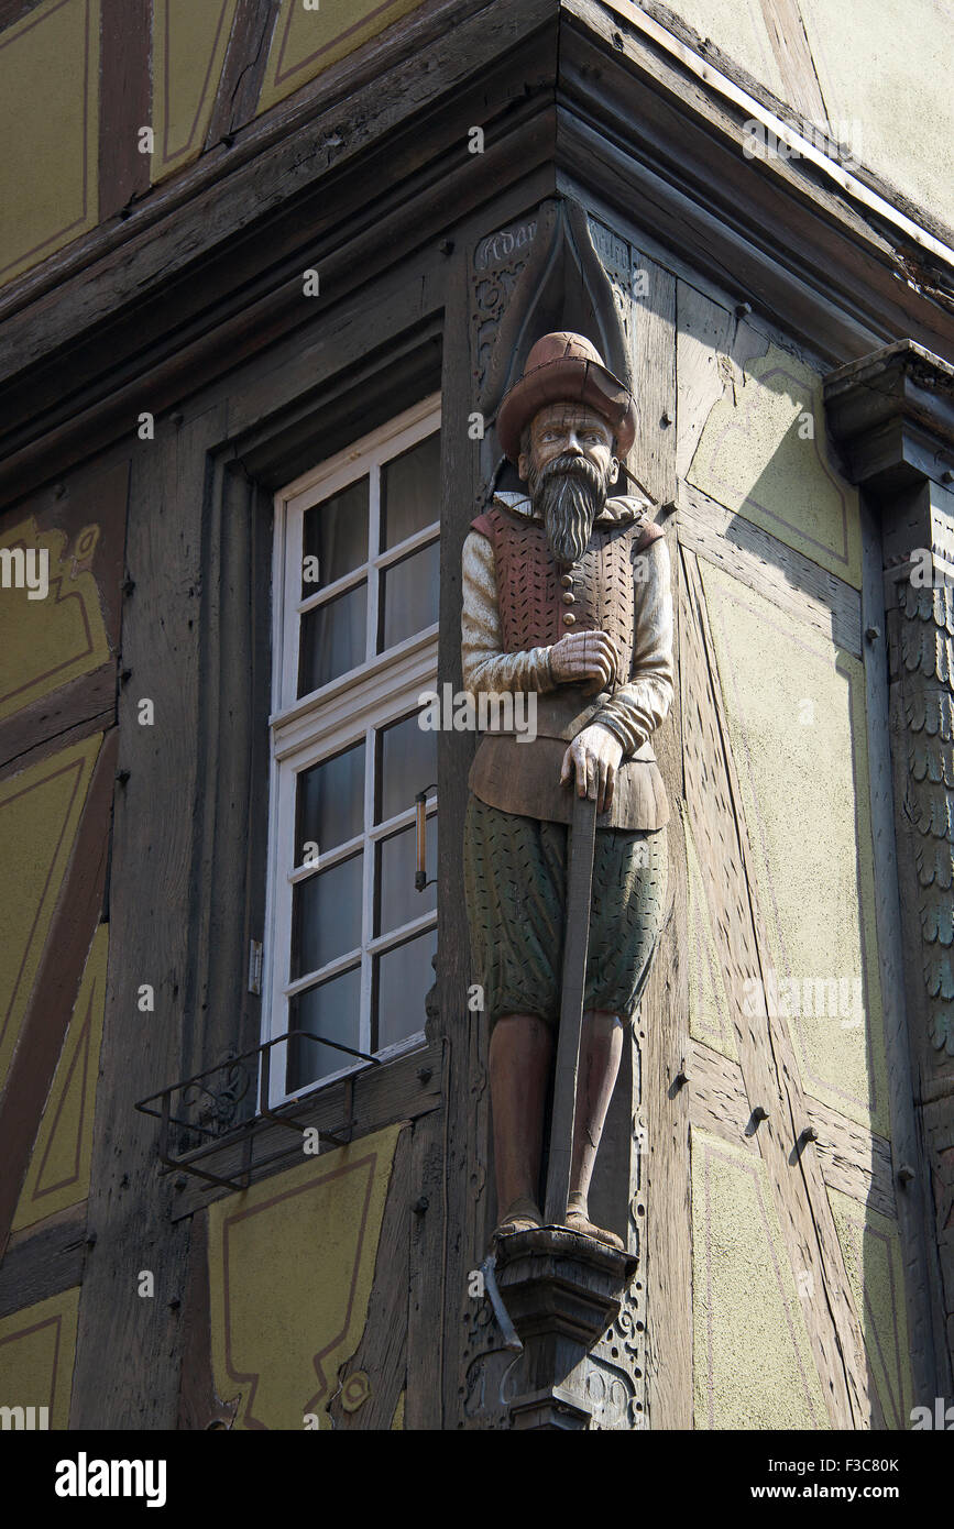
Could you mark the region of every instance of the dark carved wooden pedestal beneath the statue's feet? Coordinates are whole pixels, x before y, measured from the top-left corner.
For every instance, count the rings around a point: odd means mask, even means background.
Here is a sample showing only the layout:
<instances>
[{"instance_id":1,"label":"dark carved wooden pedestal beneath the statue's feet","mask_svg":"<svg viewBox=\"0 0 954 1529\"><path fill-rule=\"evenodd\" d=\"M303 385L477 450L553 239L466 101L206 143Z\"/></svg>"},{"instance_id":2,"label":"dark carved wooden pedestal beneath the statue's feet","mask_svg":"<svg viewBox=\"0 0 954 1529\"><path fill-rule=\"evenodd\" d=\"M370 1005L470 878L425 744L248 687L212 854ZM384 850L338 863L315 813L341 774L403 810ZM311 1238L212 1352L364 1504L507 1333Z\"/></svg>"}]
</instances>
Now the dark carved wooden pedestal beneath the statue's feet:
<instances>
[{"instance_id":1,"label":"dark carved wooden pedestal beneath the statue's feet","mask_svg":"<svg viewBox=\"0 0 954 1529\"><path fill-rule=\"evenodd\" d=\"M590 1353L619 1316L638 1260L563 1226L497 1242L497 1286L523 1342L511 1427L584 1430L595 1416Z\"/></svg>"}]
</instances>

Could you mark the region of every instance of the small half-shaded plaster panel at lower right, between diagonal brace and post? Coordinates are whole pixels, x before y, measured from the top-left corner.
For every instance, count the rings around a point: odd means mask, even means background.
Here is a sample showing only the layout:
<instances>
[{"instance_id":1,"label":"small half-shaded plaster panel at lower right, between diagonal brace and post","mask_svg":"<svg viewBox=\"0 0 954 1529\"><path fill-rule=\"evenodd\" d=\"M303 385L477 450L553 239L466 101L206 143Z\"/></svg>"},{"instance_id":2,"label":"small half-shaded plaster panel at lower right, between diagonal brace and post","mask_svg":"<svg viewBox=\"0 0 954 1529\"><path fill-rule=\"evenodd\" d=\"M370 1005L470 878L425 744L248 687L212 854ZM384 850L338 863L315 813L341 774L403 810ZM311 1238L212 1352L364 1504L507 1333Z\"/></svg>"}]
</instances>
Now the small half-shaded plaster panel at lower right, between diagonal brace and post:
<instances>
[{"instance_id":1,"label":"small half-shaded plaster panel at lower right, between diagonal brace and post","mask_svg":"<svg viewBox=\"0 0 954 1529\"><path fill-rule=\"evenodd\" d=\"M888 1428L911 1427L913 1381L897 1222L829 1190L870 1373Z\"/></svg>"}]
</instances>

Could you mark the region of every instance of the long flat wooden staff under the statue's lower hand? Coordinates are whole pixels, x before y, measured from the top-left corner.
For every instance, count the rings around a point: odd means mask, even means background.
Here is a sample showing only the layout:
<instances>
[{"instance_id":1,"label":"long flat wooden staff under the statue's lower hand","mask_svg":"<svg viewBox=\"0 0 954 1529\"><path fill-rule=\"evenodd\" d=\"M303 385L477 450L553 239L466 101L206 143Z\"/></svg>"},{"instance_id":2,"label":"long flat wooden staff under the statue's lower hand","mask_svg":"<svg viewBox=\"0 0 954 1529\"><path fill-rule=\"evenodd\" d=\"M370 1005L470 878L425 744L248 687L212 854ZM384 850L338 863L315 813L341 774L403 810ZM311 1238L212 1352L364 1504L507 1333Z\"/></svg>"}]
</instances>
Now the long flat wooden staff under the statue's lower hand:
<instances>
[{"instance_id":1,"label":"long flat wooden staff under the statue's lower hand","mask_svg":"<svg viewBox=\"0 0 954 1529\"><path fill-rule=\"evenodd\" d=\"M570 1199L576 1073L579 1072L586 963L590 948L590 899L593 891L595 850L596 803L590 797L579 797L573 792L563 937L563 994L560 1000L553 1119L550 1124L550 1161L544 1206L544 1222L547 1226L563 1226L566 1223Z\"/></svg>"}]
</instances>

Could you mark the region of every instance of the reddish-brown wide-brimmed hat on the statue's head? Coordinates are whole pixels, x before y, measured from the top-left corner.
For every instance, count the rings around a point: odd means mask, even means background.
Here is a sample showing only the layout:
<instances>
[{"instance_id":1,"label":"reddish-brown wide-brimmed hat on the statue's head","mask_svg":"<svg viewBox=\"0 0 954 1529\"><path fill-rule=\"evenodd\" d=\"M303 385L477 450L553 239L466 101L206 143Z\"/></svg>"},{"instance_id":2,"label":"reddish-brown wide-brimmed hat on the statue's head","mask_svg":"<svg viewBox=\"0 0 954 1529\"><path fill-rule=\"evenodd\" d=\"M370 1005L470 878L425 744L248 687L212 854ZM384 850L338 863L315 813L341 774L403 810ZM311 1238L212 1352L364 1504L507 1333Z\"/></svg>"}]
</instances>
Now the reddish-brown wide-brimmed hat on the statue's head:
<instances>
[{"instance_id":1,"label":"reddish-brown wide-brimmed hat on the statue's head","mask_svg":"<svg viewBox=\"0 0 954 1529\"><path fill-rule=\"evenodd\" d=\"M625 382L613 376L584 335L556 330L531 350L523 376L505 394L497 436L515 465L524 427L547 404L587 404L605 419L625 457L636 434L636 404Z\"/></svg>"}]
</instances>

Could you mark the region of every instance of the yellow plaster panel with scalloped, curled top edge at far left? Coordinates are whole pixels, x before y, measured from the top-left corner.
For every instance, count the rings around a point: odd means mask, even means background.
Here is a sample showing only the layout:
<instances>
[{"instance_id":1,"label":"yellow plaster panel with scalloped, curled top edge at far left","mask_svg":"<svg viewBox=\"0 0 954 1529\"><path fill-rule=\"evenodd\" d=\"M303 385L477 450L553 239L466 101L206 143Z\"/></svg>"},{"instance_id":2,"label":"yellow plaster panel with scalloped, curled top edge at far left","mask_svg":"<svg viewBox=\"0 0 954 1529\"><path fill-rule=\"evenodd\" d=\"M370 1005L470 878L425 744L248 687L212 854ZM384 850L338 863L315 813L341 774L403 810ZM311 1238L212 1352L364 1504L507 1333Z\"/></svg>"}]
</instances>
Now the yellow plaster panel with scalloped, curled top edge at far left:
<instances>
[{"instance_id":1,"label":"yellow plaster panel with scalloped, curled top edge at far left","mask_svg":"<svg viewBox=\"0 0 954 1529\"><path fill-rule=\"evenodd\" d=\"M63 531L37 529L31 515L0 532L0 547L49 553L49 593L0 587L0 720L89 674L109 659L109 641L90 561L99 526L70 541Z\"/></svg>"}]
</instances>

